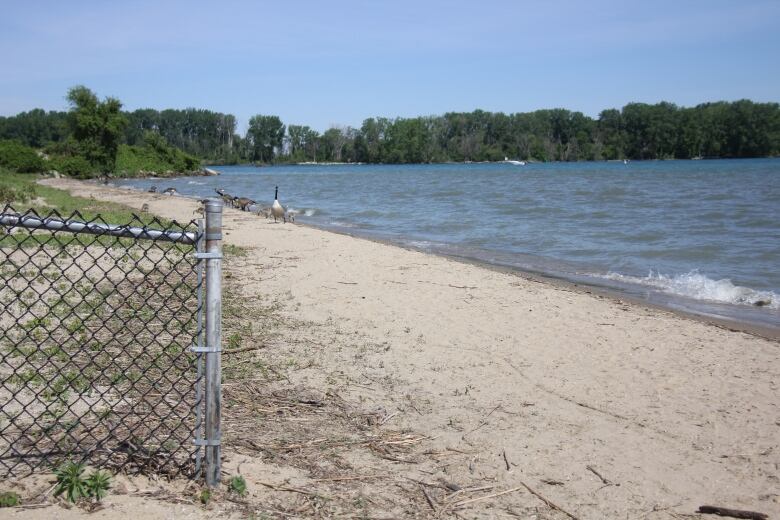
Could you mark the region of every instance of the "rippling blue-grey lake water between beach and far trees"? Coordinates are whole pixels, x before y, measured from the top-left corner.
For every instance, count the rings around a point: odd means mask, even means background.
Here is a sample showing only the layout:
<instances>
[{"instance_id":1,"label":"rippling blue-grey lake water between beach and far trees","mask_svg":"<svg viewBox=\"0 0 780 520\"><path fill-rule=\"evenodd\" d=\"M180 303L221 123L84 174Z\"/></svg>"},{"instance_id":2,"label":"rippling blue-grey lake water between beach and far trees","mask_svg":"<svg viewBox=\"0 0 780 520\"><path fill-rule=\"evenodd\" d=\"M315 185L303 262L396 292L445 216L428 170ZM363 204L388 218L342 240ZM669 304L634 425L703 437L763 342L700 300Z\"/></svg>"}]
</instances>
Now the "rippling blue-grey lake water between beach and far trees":
<instances>
[{"instance_id":1,"label":"rippling blue-grey lake water between beach and far trees","mask_svg":"<svg viewBox=\"0 0 780 520\"><path fill-rule=\"evenodd\" d=\"M780 160L217 167L122 185L280 201L298 222L780 327Z\"/></svg>"}]
</instances>

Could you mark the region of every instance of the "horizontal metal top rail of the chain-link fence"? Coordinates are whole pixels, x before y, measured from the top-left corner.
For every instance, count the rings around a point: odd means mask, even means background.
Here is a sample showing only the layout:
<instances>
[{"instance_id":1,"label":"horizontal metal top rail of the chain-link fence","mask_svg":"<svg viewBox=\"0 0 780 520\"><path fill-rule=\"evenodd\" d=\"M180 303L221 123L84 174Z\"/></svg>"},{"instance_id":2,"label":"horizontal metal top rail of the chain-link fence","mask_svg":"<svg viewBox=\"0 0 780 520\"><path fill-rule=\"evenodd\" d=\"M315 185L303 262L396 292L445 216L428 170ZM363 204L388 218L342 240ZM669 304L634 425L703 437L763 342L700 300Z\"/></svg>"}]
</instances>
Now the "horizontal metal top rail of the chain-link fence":
<instances>
[{"instance_id":1,"label":"horizontal metal top rail of the chain-link fence","mask_svg":"<svg viewBox=\"0 0 780 520\"><path fill-rule=\"evenodd\" d=\"M76 215L76 214L74 214ZM26 229L46 229L49 231L65 231L70 233L87 233L91 235L108 235L122 238L143 238L163 242L194 245L198 241L198 233L192 231L150 229L146 226L115 225L104 222L82 222L57 216L40 216L28 213L0 213L0 225L21 227ZM178 224L177 224L178 225Z\"/></svg>"}]
</instances>

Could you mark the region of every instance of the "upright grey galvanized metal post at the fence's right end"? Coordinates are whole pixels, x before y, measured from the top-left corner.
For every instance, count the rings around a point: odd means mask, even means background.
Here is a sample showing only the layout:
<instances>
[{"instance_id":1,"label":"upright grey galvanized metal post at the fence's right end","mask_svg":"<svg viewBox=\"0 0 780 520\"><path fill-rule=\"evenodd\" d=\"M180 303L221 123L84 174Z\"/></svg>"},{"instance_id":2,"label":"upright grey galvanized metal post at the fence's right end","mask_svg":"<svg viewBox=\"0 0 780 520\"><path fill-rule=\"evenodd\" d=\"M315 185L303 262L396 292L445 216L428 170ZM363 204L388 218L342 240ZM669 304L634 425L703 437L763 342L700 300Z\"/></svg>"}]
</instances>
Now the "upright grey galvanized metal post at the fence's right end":
<instances>
[{"instance_id":1,"label":"upright grey galvanized metal post at the fence's right end","mask_svg":"<svg viewBox=\"0 0 780 520\"><path fill-rule=\"evenodd\" d=\"M209 199L206 214L206 485L219 485L222 429L222 201Z\"/></svg>"}]
</instances>

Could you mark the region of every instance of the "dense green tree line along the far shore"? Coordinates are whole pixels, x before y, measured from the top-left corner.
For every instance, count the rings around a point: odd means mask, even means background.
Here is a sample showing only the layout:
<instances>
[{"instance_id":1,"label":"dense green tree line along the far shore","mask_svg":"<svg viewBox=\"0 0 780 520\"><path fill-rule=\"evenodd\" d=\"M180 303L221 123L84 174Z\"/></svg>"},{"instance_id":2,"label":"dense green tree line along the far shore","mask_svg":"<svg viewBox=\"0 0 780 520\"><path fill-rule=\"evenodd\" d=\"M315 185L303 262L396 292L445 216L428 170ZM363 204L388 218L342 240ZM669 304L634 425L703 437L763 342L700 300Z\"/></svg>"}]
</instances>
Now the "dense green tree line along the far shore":
<instances>
[{"instance_id":1,"label":"dense green tree line along the far shore","mask_svg":"<svg viewBox=\"0 0 780 520\"><path fill-rule=\"evenodd\" d=\"M526 113L450 112L414 118L375 117L360 128L320 133L258 114L242 136L236 117L209 110L123 112L123 144L149 133L211 163L430 163L614 159L691 159L780 155L780 105L750 100L679 107L629 103L592 118L566 109ZM41 109L0 118L0 139L32 147L67 139L68 113Z\"/></svg>"}]
</instances>

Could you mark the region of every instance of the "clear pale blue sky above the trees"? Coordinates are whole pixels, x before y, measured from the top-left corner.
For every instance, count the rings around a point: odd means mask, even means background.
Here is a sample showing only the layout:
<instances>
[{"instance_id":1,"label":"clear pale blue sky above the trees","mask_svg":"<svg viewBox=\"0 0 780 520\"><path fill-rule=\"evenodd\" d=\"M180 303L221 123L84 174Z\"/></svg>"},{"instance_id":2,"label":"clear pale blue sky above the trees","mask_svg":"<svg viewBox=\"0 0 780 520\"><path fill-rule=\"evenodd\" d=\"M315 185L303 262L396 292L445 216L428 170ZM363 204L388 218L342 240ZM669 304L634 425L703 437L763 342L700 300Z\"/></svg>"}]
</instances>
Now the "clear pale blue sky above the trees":
<instances>
[{"instance_id":1,"label":"clear pale blue sky above the trees","mask_svg":"<svg viewBox=\"0 0 780 520\"><path fill-rule=\"evenodd\" d=\"M0 115L208 108L320 131L372 116L780 101L780 2L26 1L0 17Z\"/></svg>"}]
</instances>

